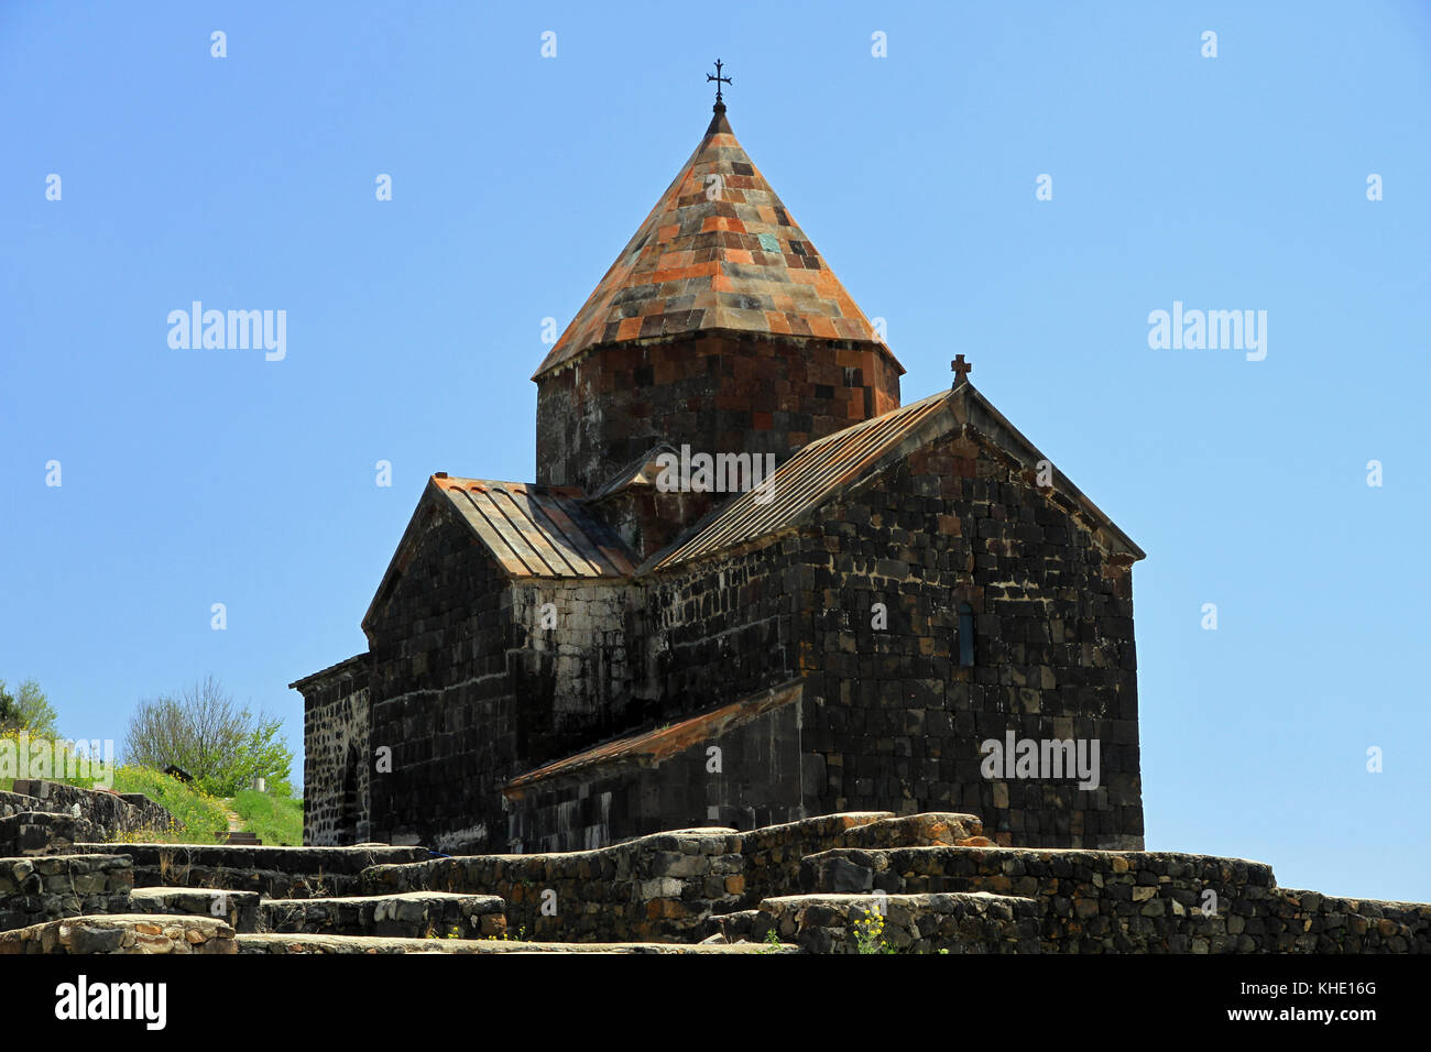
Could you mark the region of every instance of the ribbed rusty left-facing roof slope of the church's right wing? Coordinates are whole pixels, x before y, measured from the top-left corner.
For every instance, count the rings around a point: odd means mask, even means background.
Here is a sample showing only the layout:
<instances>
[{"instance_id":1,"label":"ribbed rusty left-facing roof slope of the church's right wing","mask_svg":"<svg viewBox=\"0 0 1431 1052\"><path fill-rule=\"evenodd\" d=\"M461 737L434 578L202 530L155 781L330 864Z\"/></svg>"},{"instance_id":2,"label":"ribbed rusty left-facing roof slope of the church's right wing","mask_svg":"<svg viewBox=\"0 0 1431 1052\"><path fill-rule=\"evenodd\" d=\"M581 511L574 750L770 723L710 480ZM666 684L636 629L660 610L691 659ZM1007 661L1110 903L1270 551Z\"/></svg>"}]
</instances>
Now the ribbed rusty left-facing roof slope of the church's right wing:
<instances>
[{"instance_id":1,"label":"ribbed rusty left-facing roof slope of the church's right wing","mask_svg":"<svg viewBox=\"0 0 1431 1052\"><path fill-rule=\"evenodd\" d=\"M896 449L937 414L952 394L942 391L811 442L771 475L768 500L763 501L764 494L758 488L740 494L653 568L663 570L734 548L794 525L804 512L823 504L840 487L859 479L876 461Z\"/></svg>"}]
</instances>

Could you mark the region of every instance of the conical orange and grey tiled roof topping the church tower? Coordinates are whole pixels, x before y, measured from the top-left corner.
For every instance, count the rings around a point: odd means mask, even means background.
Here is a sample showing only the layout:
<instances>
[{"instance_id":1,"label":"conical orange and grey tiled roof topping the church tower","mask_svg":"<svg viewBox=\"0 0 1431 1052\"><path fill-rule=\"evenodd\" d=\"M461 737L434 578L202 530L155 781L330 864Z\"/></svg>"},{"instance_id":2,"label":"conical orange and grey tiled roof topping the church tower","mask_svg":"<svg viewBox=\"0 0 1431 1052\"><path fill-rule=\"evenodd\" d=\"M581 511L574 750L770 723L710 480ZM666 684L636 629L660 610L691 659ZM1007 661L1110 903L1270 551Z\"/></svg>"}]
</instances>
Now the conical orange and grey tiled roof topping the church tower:
<instances>
[{"instance_id":1,"label":"conical orange and grey tiled roof topping the church tower","mask_svg":"<svg viewBox=\"0 0 1431 1052\"><path fill-rule=\"evenodd\" d=\"M893 361L724 106L532 379L592 346L717 329L874 342Z\"/></svg>"}]
</instances>

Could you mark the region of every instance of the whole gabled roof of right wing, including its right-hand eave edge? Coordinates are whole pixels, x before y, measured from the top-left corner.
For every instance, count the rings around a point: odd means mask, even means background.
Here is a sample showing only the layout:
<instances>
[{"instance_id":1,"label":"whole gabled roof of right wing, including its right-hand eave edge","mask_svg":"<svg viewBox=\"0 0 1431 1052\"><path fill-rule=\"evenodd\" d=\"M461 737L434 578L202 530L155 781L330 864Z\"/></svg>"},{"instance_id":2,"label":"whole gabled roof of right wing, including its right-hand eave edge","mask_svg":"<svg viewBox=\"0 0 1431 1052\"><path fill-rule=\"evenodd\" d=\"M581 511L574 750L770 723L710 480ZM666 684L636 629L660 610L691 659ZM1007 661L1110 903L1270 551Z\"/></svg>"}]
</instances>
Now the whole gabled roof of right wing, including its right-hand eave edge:
<instances>
[{"instance_id":1,"label":"whole gabled roof of right wing, including its right-hand eave edge","mask_svg":"<svg viewBox=\"0 0 1431 1052\"><path fill-rule=\"evenodd\" d=\"M873 478L880 468L964 424L987 435L1029 468L1047 459L966 381L952 391L922 398L810 442L786 461L764 487L731 498L694 534L653 555L640 573L665 570L794 528L810 520L817 508ZM1053 490L1089 520L1110 550L1135 561L1143 558L1143 550L1056 468Z\"/></svg>"}]
</instances>

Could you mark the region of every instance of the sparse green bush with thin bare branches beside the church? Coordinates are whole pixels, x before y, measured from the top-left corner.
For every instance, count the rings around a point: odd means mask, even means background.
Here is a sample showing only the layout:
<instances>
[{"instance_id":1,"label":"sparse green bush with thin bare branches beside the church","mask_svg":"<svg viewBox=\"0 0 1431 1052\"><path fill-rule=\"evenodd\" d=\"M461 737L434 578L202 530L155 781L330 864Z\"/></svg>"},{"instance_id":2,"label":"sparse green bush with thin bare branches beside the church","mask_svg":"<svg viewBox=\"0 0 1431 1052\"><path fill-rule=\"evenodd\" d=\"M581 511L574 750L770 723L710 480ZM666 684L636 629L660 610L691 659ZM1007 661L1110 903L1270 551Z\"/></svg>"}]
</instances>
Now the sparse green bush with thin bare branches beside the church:
<instances>
[{"instance_id":1,"label":"sparse green bush with thin bare branches beside the church","mask_svg":"<svg viewBox=\"0 0 1431 1052\"><path fill-rule=\"evenodd\" d=\"M215 796L233 796L255 777L286 784L293 751L279 734L282 721L240 707L210 676L179 694L140 701L129 717L124 760L193 774Z\"/></svg>"}]
</instances>

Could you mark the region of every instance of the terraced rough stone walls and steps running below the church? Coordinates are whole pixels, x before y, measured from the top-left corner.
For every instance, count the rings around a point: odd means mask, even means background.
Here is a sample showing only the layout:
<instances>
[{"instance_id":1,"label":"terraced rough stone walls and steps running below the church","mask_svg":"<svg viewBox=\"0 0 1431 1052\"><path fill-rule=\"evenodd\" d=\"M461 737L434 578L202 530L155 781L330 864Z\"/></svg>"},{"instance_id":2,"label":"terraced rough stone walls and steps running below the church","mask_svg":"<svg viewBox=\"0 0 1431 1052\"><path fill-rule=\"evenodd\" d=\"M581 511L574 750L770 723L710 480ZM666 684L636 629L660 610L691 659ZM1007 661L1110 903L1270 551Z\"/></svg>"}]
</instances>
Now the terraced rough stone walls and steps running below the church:
<instances>
[{"instance_id":1,"label":"terraced rough stone walls and steps running below the church","mask_svg":"<svg viewBox=\"0 0 1431 1052\"><path fill-rule=\"evenodd\" d=\"M0 859L0 953L1431 952L1428 905L1279 889L1242 859L999 847L969 814L464 857L16 824L41 832Z\"/></svg>"}]
</instances>

